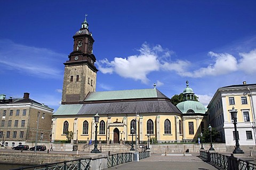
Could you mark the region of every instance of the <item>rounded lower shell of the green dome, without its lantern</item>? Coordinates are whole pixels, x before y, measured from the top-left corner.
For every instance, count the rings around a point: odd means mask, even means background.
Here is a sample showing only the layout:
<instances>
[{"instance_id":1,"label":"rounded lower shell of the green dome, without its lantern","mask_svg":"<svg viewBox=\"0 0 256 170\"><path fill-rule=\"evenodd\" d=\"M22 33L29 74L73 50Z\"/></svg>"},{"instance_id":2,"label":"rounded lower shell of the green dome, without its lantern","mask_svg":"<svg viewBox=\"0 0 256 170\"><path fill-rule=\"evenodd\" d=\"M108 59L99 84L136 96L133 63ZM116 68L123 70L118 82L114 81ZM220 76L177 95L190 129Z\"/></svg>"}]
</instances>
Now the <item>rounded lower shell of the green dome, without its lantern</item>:
<instances>
[{"instance_id":1,"label":"rounded lower shell of the green dome, without its lantern","mask_svg":"<svg viewBox=\"0 0 256 170\"><path fill-rule=\"evenodd\" d=\"M187 100L187 101L182 101L177 105L178 109L182 114L191 114L191 113L200 113L200 114L205 114L206 108L202 103L199 101L194 101L194 100Z\"/></svg>"}]
</instances>

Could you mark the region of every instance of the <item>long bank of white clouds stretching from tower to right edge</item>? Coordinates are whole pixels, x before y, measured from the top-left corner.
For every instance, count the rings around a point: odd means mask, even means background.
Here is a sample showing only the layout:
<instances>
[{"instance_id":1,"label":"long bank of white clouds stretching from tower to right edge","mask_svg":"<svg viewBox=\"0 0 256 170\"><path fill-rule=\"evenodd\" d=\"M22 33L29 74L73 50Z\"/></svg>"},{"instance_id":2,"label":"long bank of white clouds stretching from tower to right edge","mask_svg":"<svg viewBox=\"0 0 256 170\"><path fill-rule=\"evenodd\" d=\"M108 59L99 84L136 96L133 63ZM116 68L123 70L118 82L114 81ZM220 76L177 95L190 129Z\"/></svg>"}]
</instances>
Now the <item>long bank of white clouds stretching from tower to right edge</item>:
<instances>
[{"instance_id":1,"label":"long bank of white clouds stretching from tower to right edge","mask_svg":"<svg viewBox=\"0 0 256 170\"><path fill-rule=\"evenodd\" d=\"M126 58L115 57L113 61L107 59L98 62L99 70L106 73L116 73L123 78L140 80L148 83L148 74L156 71L170 71L181 77L203 78L207 76L228 75L230 73L249 73L256 71L256 49L249 53L239 53L241 59L228 53L209 52L208 63L193 63L188 60L171 60L173 51L164 49L161 45L150 47L147 43L142 44L138 50L139 55ZM196 69L197 68L197 69Z\"/></svg>"}]
</instances>

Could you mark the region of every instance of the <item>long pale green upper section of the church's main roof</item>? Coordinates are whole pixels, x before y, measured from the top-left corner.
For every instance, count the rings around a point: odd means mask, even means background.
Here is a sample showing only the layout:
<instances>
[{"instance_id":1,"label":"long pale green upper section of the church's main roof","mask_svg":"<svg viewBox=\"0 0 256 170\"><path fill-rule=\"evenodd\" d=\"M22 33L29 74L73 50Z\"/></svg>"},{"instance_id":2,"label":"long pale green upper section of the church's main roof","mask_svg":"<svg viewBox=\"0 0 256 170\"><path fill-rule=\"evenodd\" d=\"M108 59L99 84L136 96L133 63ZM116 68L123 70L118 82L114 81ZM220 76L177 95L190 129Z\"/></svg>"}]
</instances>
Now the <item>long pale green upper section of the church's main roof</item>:
<instances>
[{"instance_id":1,"label":"long pale green upper section of the church's main roof","mask_svg":"<svg viewBox=\"0 0 256 170\"><path fill-rule=\"evenodd\" d=\"M118 90L90 92L84 101L118 100L139 98L167 98L157 89Z\"/></svg>"}]
</instances>

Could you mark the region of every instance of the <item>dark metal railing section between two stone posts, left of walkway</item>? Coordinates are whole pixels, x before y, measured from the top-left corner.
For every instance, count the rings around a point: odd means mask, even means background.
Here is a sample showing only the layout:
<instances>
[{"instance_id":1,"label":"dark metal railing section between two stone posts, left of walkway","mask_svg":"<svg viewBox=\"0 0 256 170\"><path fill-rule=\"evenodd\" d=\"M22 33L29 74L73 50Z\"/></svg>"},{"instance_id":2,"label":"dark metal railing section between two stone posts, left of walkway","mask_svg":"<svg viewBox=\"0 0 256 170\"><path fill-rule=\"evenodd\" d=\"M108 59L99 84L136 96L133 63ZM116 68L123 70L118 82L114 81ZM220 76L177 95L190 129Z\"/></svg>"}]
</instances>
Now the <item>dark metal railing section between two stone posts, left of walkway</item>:
<instances>
[{"instance_id":1,"label":"dark metal railing section between two stone posts, left of walkway","mask_svg":"<svg viewBox=\"0 0 256 170\"><path fill-rule=\"evenodd\" d=\"M132 162L133 153L113 154L108 156L108 168Z\"/></svg>"}]
</instances>

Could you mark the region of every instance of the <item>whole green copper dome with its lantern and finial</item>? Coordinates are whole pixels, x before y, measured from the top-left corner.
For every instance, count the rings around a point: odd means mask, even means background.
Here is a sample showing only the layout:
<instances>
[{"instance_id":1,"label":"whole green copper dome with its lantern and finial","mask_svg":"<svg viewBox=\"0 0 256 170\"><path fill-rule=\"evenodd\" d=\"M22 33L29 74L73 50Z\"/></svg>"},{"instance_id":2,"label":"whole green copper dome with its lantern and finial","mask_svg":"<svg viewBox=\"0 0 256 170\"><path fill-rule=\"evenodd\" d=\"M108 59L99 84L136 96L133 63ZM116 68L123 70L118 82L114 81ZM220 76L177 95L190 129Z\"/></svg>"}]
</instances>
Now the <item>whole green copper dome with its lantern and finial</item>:
<instances>
[{"instance_id":1,"label":"whole green copper dome with its lantern and finial","mask_svg":"<svg viewBox=\"0 0 256 170\"><path fill-rule=\"evenodd\" d=\"M183 101L177 105L182 114L205 114L206 108L199 101L195 101L193 89L187 87L183 90Z\"/></svg>"}]
</instances>

